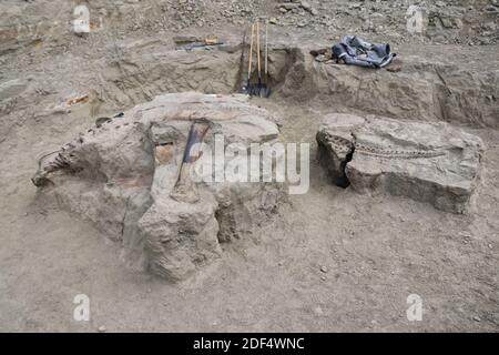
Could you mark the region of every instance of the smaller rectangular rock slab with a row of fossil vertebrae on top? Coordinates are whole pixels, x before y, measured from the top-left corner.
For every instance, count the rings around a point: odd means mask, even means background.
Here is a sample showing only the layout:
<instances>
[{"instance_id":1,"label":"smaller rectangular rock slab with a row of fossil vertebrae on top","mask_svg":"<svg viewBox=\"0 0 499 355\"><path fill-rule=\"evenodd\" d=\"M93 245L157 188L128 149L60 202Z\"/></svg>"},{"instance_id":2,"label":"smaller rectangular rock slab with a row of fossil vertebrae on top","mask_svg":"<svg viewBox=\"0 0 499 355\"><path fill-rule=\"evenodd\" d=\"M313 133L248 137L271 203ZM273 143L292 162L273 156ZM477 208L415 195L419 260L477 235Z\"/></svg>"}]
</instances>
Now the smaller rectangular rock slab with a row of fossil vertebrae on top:
<instances>
[{"instance_id":1,"label":"smaller rectangular rock slab with a row of fossil vertebrae on top","mask_svg":"<svg viewBox=\"0 0 499 355\"><path fill-rule=\"evenodd\" d=\"M333 182L464 213L476 189L481 140L447 123L332 114L317 134ZM345 184L343 184L345 185Z\"/></svg>"}]
</instances>

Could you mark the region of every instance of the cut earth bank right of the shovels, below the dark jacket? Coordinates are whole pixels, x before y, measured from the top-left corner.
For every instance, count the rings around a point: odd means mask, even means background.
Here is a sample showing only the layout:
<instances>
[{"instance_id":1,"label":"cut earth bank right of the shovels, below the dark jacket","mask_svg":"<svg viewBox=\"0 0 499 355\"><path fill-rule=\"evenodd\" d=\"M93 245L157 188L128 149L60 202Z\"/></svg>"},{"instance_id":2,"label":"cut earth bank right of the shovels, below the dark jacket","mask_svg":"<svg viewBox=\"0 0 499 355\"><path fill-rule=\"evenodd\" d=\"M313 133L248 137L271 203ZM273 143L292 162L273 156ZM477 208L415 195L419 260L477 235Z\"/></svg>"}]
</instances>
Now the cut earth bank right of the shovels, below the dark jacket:
<instances>
[{"instance_id":1,"label":"cut earth bank right of the shovels, below the dark jacket","mask_svg":"<svg viewBox=\"0 0 499 355\"><path fill-rule=\"evenodd\" d=\"M271 52L271 75L279 65L277 50ZM322 100L330 106L359 110L397 119L447 121L499 128L499 74L493 63L475 68L429 61L420 55L396 60L399 72L366 70L345 64L319 63L288 50L287 75L274 90L292 100ZM489 99L487 99L489 97Z\"/></svg>"}]
</instances>

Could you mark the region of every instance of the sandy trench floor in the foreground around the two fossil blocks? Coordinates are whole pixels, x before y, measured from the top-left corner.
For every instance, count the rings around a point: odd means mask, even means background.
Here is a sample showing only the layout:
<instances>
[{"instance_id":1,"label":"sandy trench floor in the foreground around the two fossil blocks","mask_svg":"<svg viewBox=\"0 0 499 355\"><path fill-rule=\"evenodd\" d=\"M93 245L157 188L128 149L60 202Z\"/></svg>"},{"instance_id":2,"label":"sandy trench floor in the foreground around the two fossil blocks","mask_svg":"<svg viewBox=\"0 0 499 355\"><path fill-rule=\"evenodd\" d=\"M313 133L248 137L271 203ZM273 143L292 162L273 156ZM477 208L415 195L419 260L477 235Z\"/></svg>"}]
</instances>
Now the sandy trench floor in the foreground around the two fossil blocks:
<instances>
[{"instance_id":1,"label":"sandy trench floor in the foreground around the two fossil blocks","mask_svg":"<svg viewBox=\"0 0 499 355\"><path fill-rule=\"evenodd\" d=\"M316 113L286 111L284 134L312 141ZM60 133L78 129L65 122ZM497 331L499 134L475 132L489 144L476 214L357 195L314 162L309 193L225 244L217 267L171 285L126 270L120 247L78 216L37 203L33 156L50 138L23 126L22 143L2 143L2 331ZM81 293L89 323L72 320ZM406 318L413 293L422 322Z\"/></svg>"}]
</instances>

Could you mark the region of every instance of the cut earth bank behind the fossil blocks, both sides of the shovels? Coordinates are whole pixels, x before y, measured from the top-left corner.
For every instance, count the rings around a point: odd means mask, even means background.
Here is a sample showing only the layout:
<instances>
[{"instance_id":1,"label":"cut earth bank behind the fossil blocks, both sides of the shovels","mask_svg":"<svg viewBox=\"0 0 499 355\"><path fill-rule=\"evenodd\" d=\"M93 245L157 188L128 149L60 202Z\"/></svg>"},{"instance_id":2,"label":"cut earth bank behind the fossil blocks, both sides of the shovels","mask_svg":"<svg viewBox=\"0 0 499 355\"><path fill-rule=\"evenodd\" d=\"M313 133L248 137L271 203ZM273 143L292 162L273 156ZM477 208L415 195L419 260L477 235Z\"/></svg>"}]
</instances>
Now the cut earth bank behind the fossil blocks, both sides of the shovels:
<instances>
[{"instance_id":1,"label":"cut earth bank behind the fossil blocks, both sides of the shovels","mask_svg":"<svg viewBox=\"0 0 499 355\"><path fill-rule=\"evenodd\" d=\"M116 108L130 108L166 92L241 92L247 80L248 51L247 47L242 51L241 45L226 45L210 51L124 55L108 63L98 90L104 102ZM308 51L292 45L269 47L264 82L272 89L271 100L332 112L499 128L499 78L493 68L477 72L466 63L399 55L401 71L388 72L319 63ZM256 70L252 83L257 83Z\"/></svg>"}]
</instances>

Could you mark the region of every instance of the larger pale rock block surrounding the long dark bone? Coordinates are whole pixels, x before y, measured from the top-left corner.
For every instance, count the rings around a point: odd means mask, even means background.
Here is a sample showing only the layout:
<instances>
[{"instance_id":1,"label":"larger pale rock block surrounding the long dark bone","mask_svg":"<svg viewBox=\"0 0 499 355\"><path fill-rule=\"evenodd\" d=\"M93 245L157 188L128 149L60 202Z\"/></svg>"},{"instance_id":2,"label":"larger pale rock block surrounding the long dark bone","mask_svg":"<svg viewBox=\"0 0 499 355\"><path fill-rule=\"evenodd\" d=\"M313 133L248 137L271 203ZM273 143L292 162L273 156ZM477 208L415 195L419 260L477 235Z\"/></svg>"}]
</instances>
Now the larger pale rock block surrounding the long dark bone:
<instances>
[{"instance_id":1,"label":"larger pale rock block surrounding the long dark bone","mask_svg":"<svg viewBox=\"0 0 499 355\"><path fill-rule=\"evenodd\" d=\"M206 154L191 170L200 178L200 200L173 200L187 132L197 119L212 122L205 138L212 152L216 136L223 135L222 146L249 146L273 143L279 134L271 114L245 95L165 94L100 120L99 128L42 160L33 182L44 195L121 241L130 266L185 280L220 257L221 242L243 236L255 220L268 217L283 195L276 183L205 179L234 163L215 161L215 172L204 172L212 164Z\"/></svg>"}]
</instances>

